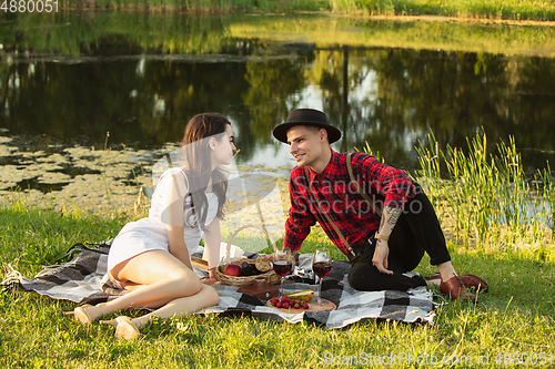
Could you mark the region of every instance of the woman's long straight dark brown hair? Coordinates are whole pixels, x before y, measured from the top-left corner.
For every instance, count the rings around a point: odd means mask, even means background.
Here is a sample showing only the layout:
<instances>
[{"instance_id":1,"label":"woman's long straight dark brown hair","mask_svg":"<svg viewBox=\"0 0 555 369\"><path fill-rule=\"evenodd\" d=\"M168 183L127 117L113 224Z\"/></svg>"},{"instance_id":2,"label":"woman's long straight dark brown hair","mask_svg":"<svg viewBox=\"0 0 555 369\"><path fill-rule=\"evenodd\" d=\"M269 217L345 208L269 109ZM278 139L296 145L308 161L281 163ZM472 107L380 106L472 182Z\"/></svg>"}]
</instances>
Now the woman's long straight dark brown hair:
<instances>
[{"instance_id":1,"label":"woman's long straight dark brown hair","mask_svg":"<svg viewBox=\"0 0 555 369\"><path fill-rule=\"evenodd\" d=\"M212 191L218 196L219 205L216 217L223 219L223 205L228 192L228 174L216 167L212 171L212 152L210 140L229 140L225 134L230 121L218 113L202 113L193 116L185 127L182 141L184 171L189 180L189 194L185 198L185 224L188 226L200 225L206 229L208 201L205 196L209 181L212 180Z\"/></svg>"}]
</instances>

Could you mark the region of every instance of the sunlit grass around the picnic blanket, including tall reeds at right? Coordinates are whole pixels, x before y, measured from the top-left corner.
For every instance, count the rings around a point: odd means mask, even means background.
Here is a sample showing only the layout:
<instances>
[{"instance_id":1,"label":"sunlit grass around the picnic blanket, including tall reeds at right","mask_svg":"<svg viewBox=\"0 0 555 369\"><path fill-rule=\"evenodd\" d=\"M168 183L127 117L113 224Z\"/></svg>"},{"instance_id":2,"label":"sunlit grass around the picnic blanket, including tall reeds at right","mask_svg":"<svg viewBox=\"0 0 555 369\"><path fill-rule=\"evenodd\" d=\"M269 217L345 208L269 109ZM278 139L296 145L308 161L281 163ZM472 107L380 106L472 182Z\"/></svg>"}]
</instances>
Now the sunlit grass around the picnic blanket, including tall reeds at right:
<instances>
[{"instance_id":1,"label":"sunlit grass around the picnic blanket, including tall reeds at right","mask_svg":"<svg viewBox=\"0 0 555 369\"><path fill-rule=\"evenodd\" d=\"M536 360L543 355L544 366L551 367L555 361L552 242L546 240L532 252L508 247L509 240L536 242L535 230L527 229L526 224L539 222L535 217L541 215L519 214L519 209L526 202L541 198L553 208L551 173L548 170L542 172L542 176L538 173L542 182L537 185L531 182L521 173L519 155L512 141L500 143L498 153L493 156L485 154L487 141L483 135L468 140L470 154L450 147L443 153L433 139L430 142L420 150L418 178L426 176L422 182L444 224L448 214L457 214L451 221L460 219L456 235L452 235L456 242L451 242L448 248L460 274L475 273L488 281L491 290L480 294L478 304L454 303L440 307L434 311L434 326L371 320L339 330L249 317L181 317L153 321L143 329L141 339L128 342L115 340L109 326L81 327L61 314L71 310L74 304L3 288L0 366L334 368L356 363L355 357L364 360L372 355L394 356L397 362L404 357L405 361L397 367L410 367L410 356L427 356L437 362L447 360L447 365L458 362L458 367L475 367L477 360L487 358L487 366L483 367L498 367L515 365L525 359L521 353L527 352L528 359L532 353ZM71 211L53 212L32 207L22 198L0 207L0 264L4 276L7 265L11 264L23 276L32 277L41 265L59 263L73 243L111 238L134 217L132 211L127 216L121 215L123 213L114 216L109 209L104 213L100 217ZM528 226L541 229L539 225ZM523 229L527 232L522 234ZM254 236L248 234L243 239L249 242ZM507 239L507 244L492 247L488 244L492 237ZM281 240L278 244L281 246ZM322 229L313 227L301 252L311 253L322 247L334 249L334 259L344 259ZM435 271L427 256L416 270L425 276ZM455 361L461 358L465 361Z\"/></svg>"}]
</instances>

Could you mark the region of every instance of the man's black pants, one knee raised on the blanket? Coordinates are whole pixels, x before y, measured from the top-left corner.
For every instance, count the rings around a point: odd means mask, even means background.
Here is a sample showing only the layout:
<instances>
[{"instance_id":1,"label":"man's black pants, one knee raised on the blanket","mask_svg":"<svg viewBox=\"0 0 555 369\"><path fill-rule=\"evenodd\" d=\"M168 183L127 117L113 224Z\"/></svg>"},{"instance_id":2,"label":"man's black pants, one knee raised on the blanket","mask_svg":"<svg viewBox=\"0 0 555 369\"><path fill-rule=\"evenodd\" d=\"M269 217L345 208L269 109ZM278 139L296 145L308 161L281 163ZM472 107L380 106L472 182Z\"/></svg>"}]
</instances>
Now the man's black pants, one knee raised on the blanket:
<instances>
[{"instance_id":1,"label":"man's black pants, one knee raised on the blanket","mask_svg":"<svg viewBox=\"0 0 555 369\"><path fill-rule=\"evenodd\" d=\"M351 265L349 284L359 290L407 290L425 286L422 277L407 277L403 273L413 270L421 262L424 252L431 257L432 265L451 260L445 237L435 211L427 196L417 186L417 194L410 198L391 233L387 269L393 275L383 274L372 264L375 240L371 247Z\"/></svg>"}]
</instances>

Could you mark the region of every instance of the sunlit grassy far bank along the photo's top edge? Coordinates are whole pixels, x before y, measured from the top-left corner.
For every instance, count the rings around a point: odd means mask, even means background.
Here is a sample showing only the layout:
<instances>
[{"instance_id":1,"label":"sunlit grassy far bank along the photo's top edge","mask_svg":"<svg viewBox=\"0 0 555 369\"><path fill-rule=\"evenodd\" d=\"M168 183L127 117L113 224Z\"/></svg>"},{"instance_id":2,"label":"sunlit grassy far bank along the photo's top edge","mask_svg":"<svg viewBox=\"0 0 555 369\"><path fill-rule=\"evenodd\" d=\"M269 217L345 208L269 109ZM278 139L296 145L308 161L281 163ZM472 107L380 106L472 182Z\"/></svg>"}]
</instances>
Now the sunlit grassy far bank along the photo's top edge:
<instances>
[{"instance_id":1,"label":"sunlit grassy far bank along the photo's top edge","mask_svg":"<svg viewBox=\"0 0 555 369\"><path fill-rule=\"evenodd\" d=\"M490 0L481 7L472 2L450 1L422 2L412 0L392 0L389 4L369 2L364 6L352 3L351 0L312 0L303 2L283 2L269 0L258 1L224 0L212 1L152 1L138 3L135 0L62 0L61 10L121 10L141 12L169 12L194 14L222 13L315 13L336 14L343 17L362 17L369 19L416 19L416 20L456 20L507 22L513 24L544 24L555 25L555 4L545 4L536 0L526 0L518 3L496 2Z\"/></svg>"}]
</instances>

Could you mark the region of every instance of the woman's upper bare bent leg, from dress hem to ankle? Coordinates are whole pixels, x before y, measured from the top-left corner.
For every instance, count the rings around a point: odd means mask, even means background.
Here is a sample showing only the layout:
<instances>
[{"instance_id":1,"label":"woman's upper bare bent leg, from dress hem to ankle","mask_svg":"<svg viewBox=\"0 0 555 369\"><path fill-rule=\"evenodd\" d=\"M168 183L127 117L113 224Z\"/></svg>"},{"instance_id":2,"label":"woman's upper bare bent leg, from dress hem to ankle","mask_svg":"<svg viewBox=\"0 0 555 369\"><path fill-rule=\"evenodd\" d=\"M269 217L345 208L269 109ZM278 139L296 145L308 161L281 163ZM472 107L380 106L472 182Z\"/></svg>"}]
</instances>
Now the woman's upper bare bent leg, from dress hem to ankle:
<instances>
[{"instance_id":1,"label":"woman's upper bare bent leg, from dress hem to ankle","mask_svg":"<svg viewBox=\"0 0 555 369\"><path fill-rule=\"evenodd\" d=\"M118 280L142 287L112 301L88 307L92 320L125 308L160 308L202 290L202 284L193 270L164 250L137 255L117 265L110 273Z\"/></svg>"}]
</instances>

